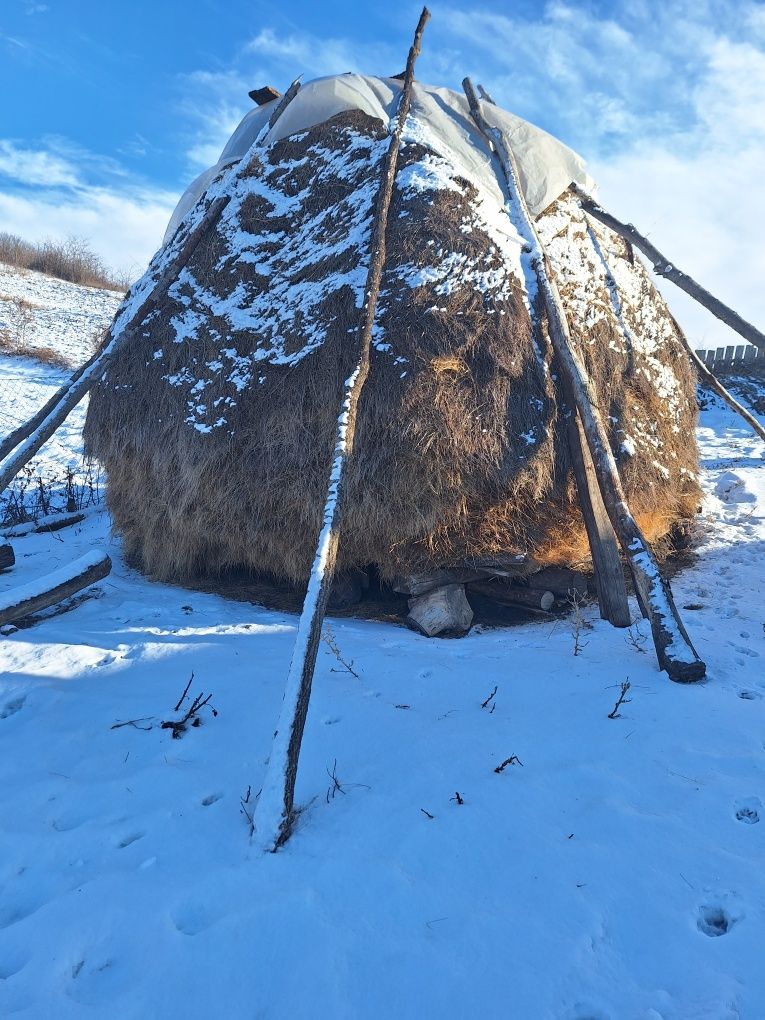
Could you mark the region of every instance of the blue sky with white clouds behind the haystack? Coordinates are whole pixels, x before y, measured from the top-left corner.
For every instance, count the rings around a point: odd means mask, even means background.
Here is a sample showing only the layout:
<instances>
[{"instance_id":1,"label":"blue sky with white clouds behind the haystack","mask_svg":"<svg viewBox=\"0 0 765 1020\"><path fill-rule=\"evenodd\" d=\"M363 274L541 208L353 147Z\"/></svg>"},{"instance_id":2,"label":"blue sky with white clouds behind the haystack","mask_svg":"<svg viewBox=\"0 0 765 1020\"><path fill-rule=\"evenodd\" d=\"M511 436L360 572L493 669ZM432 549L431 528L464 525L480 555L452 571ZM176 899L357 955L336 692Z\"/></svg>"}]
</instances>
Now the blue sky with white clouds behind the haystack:
<instances>
[{"instance_id":1,"label":"blue sky with white clouds behind the haystack","mask_svg":"<svg viewBox=\"0 0 765 1020\"><path fill-rule=\"evenodd\" d=\"M579 151L613 211L765 319L765 4L430 9L418 76L481 81ZM250 108L250 88L396 72L418 13L402 0L2 0L0 230L85 236L135 271ZM699 343L724 342L687 314Z\"/></svg>"}]
</instances>

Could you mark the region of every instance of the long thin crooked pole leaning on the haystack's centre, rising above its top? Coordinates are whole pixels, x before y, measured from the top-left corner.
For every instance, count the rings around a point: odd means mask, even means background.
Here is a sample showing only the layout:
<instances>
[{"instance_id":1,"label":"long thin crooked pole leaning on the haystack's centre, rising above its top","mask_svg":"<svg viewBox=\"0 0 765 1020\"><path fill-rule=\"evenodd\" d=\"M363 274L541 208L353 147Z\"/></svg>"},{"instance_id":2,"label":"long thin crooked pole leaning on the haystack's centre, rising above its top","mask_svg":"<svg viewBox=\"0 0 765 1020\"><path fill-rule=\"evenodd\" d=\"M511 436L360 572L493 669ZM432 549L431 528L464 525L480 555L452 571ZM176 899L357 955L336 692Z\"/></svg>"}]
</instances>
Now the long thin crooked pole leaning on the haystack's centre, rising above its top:
<instances>
[{"instance_id":1,"label":"long thin crooked pole leaning on the haystack's centre, rising above its top","mask_svg":"<svg viewBox=\"0 0 765 1020\"><path fill-rule=\"evenodd\" d=\"M369 374L372 325L382 277L382 266L386 261L388 211L396 180L401 136L412 100L414 62L419 55L422 32L429 17L429 11L423 7L417 22L414 41L409 50L396 128L391 136L391 144L382 167L382 182L374 210L364 310L358 333L358 358L353 373L345 384L343 404L338 417L335 455L329 472L326 502L324 503L323 522L298 624L298 635L295 641L268 768L253 816L253 838L258 847L264 851L277 850L289 838L292 829L300 746L303 741L308 702L311 697L321 625L326 612L326 603L329 598L338 556L343 504L346 498L345 473L348 461L353 455L359 399Z\"/></svg>"}]
</instances>

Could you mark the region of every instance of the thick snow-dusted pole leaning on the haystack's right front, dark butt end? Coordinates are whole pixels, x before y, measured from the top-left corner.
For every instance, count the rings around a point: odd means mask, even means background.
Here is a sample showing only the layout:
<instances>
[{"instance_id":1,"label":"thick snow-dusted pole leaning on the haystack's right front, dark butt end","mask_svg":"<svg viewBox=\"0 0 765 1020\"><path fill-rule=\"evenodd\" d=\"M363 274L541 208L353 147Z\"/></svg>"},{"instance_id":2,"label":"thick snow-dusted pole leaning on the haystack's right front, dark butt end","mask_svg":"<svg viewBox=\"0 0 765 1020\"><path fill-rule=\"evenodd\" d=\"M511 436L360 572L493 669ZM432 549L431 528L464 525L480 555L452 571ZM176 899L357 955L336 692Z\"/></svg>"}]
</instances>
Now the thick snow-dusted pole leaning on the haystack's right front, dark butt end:
<instances>
[{"instance_id":1,"label":"thick snow-dusted pole leaning on the haystack's right front, dark butt end","mask_svg":"<svg viewBox=\"0 0 765 1020\"><path fill-rule=\"evenodd\" d=\"M510 197L525 235L524 240L531 249L531 263L547 309L553 349L565 386L579 413L609 519L629 563L639 597L648 613L659 665L673 680L700 680L705 675L706 666L691 644L669 585L662 577L651 547L627 505L608 434L598 410L597 395L571 343L563 303L549 271L544 249L520 188L512 149L504 133L484 119L469 79L465 79L463 88L475 123L490 141L500 160Z\"/></svg>"}]
</instances>

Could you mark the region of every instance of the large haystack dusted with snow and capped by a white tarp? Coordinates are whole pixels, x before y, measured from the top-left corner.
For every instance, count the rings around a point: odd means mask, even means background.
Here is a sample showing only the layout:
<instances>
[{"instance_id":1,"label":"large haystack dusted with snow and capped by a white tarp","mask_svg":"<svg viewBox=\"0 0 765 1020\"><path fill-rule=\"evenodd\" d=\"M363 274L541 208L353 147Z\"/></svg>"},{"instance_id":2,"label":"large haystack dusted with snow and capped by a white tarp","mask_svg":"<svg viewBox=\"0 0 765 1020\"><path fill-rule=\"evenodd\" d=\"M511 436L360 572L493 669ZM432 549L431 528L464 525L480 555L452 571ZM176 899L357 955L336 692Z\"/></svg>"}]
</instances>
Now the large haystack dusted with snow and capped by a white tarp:
<instances>
[{"instance_id":1,"label":"large haystack dusted with snow and capped by a white tarp","mask_svg":"<svg viewBox=\"0 0 765 1020\"><path fill-rule=\"evenodd\" d=\"M115 353L86 425L126 552L151 575L244 568L305 581L400 89L356 74L310 83L266 134L272 104L253 110L182 200L167 251L205 204L231 198ZM569 188L592 187L581 160L510 113L488 116L513 140L630 507L662 540L699 500L695 380L678 326L627 244L585 219ZM522 249L465 99L415 85L340 570L374 565L391 578L497 554L586 560L566 412Z\"/></svg>"}]
</instances>

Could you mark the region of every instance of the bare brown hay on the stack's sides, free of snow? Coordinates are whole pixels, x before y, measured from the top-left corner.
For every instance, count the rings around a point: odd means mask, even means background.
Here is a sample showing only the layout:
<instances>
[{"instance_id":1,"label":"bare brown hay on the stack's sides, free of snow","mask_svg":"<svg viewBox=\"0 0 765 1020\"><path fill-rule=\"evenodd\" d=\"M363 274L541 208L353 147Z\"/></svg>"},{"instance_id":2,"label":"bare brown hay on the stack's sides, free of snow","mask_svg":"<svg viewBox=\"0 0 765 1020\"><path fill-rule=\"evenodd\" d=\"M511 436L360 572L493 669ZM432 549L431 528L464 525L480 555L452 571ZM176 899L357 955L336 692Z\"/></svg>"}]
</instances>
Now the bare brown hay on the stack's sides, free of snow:
<instances>
[{"instance_id":1,"label":"bare brown hay on the stack's sides, free of snow","mask_svg":"<svg viewBox=\"0 0 765 1020\"><path fill-rule=\"evenodd\" d=\"M378 121L352 112L264 153L253 172L285 194L307 190L307 198L294 218L268 217L264 200L249 201L239 225L253 235L271 232L277 248L278 232L300 231L306 217L332 208L327 238L341 241L344 203L378 173L378 165L359 158L357 147L342 176L327 181L324 174L320 189L310 186L323 172L321 153L349 150L353 132L370 142L382 137ZM402 159L424 153L409 145ZM276 169L279 161L290 161L290 168ZM359 411L358 456L348 473L340 570L374 564L390 577L497 552L524 553L542 563L586 558L558 400L539 353L544 337L534 338L517 284L502 298L469 286L445 297L430 285L410 289L397 275L407 263L436 264L445 251L486 270L502 266L472 198L466 183L462 194L395 195L379 324L407 370L402 374L393 357L374 352ZM345 249L332 264L313 266L311 279L348 270L358 259L358 251ZM190 269L220 298L237 286L256 294L272 284L252 263L236 261L221 233L197 249ZM285 262L279 272L297 279L306 269ZM353 293L337 291L327 303L321 348L294 366L269 364L262 385L239 394L222 373L208 375L208 405L236 398L226 428L208 435L183 424L184 394L163 376L189 368L200 377L201 366L219 356L221 336L241 356L254 354L260 339L232 335L224 320L209 319L193 345L172 343L169 320L185 310L183 298L194 308L191 291L167 297L91 398L86 440L107 468L115 524L133 562L155 576L192 580L249 568L302 581L319 528L343 380L352 368L350 339L359 316ZM594 341L585 350L602 406L622 422L639 414L661 424L666 415L641 385L640 356L625 358L610 348L618 323L598 328L590 336L579 323L575 332ZM303 342L300 332L286 338L288 350ZM162 357L154 359L160 348ZM679 343L676 348L666 352L673 364ZM673 438L667 424L667 449L677 466L693 470L696 451L686 437L695 422L694 386L690 373L681 379L683 439ZM531 434L532 442L522 439ZM627 495L652 538L695 509L696 487L680 477L675 472L668 481L646 455L624 465Z\"/></svg>"}]
</instances>

